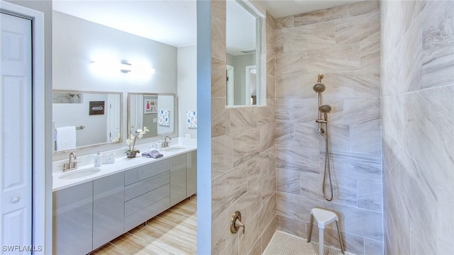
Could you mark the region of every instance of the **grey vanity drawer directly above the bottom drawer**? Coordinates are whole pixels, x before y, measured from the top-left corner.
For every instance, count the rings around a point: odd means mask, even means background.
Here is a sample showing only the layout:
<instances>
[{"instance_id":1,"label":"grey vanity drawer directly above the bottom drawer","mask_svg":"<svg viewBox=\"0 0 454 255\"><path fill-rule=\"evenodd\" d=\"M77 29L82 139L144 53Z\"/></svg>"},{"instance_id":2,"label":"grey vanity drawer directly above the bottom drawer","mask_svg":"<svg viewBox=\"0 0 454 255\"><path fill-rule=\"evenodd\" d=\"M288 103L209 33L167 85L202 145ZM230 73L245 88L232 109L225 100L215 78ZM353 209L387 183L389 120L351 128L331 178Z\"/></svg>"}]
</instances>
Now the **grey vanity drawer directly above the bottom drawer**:
<instances>
[{"instance_id":1,"label":"grey vanity drawer directly above the bottom drawer","mask_svg":"<svg viewBox=\"0 0 454 255\"><path fill-rule=\"evenodd\" d=\"M140 210L143 210L144 208L147 208L148 205L152 205L153 203L156 203L157 201L167 196L170 196L170 184L166 184L165 186L156 188L154 191L150 191L141 196L138 196L137 198L128 200L125 202L125 217L132 215L133 213L138 212Z\"/></svg>"}]
</instances>

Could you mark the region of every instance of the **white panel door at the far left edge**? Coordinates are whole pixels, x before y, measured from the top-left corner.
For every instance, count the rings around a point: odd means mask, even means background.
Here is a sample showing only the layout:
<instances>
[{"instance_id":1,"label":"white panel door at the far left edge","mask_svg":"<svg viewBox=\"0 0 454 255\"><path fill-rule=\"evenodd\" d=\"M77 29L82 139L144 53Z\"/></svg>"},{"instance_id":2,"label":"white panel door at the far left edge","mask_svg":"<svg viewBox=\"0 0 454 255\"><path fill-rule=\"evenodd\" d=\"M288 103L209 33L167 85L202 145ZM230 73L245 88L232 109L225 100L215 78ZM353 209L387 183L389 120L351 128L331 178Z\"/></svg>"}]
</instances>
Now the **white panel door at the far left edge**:
<instances>
[{"instance_id":1,"label":"white panel door at the far left edge","mask_svg":"<svg viewBox=\"0 0 454 255\"><path fill-rule=\"evenodd\" d=\"M31 21L6 13L0 21L0 252L31 254Z\"/></svg>"}]
</instances>

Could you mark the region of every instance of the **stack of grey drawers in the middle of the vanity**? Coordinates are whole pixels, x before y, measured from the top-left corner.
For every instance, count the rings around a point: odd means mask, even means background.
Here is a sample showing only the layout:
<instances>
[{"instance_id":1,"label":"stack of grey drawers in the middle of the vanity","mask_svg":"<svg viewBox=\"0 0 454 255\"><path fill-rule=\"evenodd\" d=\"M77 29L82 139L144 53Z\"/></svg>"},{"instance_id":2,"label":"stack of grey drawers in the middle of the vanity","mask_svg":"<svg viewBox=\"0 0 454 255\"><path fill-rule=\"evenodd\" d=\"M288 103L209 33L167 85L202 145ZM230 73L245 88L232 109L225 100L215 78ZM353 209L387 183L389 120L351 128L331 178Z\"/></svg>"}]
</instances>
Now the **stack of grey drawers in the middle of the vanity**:
<instances>
[{"instance_id":1,"label":"stack of grey drawers in the middle of the vanity","mask_svg":"<svg viewBox=\"0 0 454 255\"><path fill-rule=\"evenodd\" d=\"M124 230L170 208L170 159L125 172Z\"/></svg>"}]
</instances>

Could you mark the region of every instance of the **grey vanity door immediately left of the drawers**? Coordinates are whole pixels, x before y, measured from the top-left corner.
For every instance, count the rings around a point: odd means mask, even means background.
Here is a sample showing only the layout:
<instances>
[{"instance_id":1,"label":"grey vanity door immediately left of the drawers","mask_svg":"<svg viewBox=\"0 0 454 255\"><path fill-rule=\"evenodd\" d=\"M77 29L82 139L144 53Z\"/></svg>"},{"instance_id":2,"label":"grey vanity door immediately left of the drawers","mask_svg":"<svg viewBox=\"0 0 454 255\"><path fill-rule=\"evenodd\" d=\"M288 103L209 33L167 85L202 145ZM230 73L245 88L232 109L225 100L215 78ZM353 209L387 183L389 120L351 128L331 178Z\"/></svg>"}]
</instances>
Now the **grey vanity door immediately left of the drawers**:
<instances>
[{"instance_id":1,"label":"grey vanity door immediately left of the drawers","mask_svg":"<svg viewBox=\"0 0 454 255\"><path fill-rule=\"evenodd\" d=\"M93 181L93 249L123 234L123 173Z\"/></svg>"}]
</instances>

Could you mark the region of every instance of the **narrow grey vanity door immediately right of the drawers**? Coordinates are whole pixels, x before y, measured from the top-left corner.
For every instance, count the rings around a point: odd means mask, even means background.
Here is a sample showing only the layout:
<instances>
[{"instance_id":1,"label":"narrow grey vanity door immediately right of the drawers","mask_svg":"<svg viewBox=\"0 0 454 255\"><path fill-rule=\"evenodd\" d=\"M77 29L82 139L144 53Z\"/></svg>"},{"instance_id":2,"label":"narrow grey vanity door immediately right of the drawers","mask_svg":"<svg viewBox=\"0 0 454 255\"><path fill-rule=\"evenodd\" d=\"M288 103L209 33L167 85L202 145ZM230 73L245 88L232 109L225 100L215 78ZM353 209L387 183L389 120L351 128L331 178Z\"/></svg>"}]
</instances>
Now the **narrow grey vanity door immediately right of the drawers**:
<instances>
[{"instance_id":1,"label":"narrow grey vanity door immediately right of the drawers","mask_svg":"<svg viewBox=\"0 0 454 255\"><path fill-rule=\"evenodd\" d=\"M186 154L170 158L170 206L186 196Z\"/></svg>"}]
</instances>

